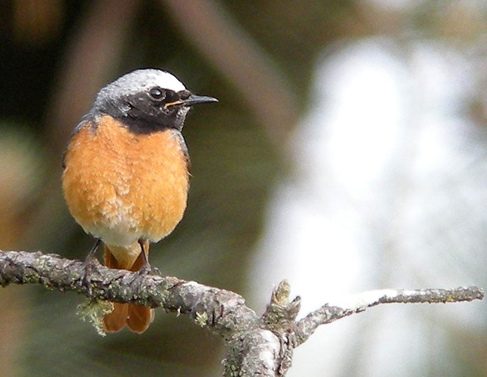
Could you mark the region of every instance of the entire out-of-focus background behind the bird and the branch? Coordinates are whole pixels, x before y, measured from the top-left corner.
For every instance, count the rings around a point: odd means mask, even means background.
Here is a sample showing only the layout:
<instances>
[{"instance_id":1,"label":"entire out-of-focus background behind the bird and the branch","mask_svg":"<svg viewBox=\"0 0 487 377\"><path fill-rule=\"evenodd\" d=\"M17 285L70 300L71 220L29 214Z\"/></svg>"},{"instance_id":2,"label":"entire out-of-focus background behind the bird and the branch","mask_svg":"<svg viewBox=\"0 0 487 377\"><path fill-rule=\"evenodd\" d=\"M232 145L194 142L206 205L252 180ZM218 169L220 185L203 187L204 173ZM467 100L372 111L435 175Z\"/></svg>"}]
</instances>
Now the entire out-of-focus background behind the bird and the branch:
<instances>
[{"instance_id":1,"label":"entire out-of-focus background behind the bird and the branch","mask_svg":"<svg viewBox=\"0 0 487 377\"><path fill-rule=\"evenodd\" d=\"M483 0L0 3L0 249L82 259L61 155L98 90L141 67L194 109L188 209L161 273L240 293L288 279L302 315L378 288L487 287ZM104 338L83 297L0 290L10 376L218 376L223 342L157 310ZM487 304L380 306L322 326L289 376L486 376Z\"/></svg>"}]
</instances>

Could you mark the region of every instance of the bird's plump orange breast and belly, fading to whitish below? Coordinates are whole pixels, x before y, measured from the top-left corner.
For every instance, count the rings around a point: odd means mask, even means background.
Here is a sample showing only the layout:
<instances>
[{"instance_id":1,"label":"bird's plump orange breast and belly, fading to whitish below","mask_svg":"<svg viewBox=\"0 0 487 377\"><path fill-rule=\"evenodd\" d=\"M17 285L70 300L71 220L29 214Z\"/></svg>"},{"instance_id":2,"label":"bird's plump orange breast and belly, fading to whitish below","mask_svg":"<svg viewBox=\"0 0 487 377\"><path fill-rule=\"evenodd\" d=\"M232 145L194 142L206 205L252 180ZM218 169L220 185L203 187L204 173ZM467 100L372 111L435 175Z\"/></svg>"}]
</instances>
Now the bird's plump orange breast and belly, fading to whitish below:
<instances>
[{"instance_id":1,"label":"bird's plump orange breast and belly, fading to whitish below","mask_svg":"<svg viewBox=\"0 0 487 377\"><path fill-rule=\"evenodd\" d=\"M174 130L132 133L105 115L86 124L65 155L63 190L85 231L124 247L157 242L183 217L188 166Z\"/></svg>"}]
</instances>

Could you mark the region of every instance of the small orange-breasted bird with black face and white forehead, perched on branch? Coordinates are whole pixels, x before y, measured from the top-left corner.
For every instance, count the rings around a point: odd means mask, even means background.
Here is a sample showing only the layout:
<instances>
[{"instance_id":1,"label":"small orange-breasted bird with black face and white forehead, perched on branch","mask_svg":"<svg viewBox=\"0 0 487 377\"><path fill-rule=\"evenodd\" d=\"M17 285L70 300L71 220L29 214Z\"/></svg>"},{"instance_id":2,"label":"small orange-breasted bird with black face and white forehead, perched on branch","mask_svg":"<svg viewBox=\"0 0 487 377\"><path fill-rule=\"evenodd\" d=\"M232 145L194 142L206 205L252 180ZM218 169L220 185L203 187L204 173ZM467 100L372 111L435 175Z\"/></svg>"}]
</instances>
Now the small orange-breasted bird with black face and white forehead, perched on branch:
<instances>
[{"instance_id":1,"label":"small orange-breasted bird with black face and white forehead, perched on branch","mask_svg":"<svg viewBox=\"0 0 487 377\"><path fill-rule=\"evenodd\" d=\"M150 242L170 234L183 218L189 189L188 148L181 131L195 95L172 73L137 69L103 87L74 128L63 155L63 192L69 212L104 245L104 265L150 273ZM96 261L98 263L98 261ZM87 270L88 271L88 270ZM105 332L126 325L141 334L154 310L113 303Z\"/></svg>"}]
</instances>

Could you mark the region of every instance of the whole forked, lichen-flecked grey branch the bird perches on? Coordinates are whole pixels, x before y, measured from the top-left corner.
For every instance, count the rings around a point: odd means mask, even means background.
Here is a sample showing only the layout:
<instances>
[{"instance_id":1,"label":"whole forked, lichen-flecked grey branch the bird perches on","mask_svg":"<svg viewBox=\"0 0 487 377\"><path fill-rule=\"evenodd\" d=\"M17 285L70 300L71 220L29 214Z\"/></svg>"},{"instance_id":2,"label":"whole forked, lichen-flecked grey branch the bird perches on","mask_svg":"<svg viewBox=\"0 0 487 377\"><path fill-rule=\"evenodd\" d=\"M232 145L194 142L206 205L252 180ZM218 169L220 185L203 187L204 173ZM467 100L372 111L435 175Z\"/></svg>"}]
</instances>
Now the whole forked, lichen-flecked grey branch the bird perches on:
<instances>
[{"instance_id":1,"label":"whole forked, lichen-flecked grey branch the bird perches on","mask_svg":"<svg viewBox=\"0 0 487 377\"><path fill-rule=\"evenodd\" d=\"M378 304L449 303L484 298L484 291L475 286L451 290L374 290L341 303L326 304L295 321L300 299L296 297L289 302L289 286L282 282L273 290L271 302L259 318L245 306L245 299L228 290L177 277L108 269L101 264L87 275L86 265L78 260L40 252L0 251L0 286L8 284L42 284L60 291L71 290L88 297L93 306L106 301L135 302L189 315L227 342L224 376L284 376L291 367L294 348L304 343L319 325ZM102 310L98 315L104 313Z\"/></svg>"}]
</instances>

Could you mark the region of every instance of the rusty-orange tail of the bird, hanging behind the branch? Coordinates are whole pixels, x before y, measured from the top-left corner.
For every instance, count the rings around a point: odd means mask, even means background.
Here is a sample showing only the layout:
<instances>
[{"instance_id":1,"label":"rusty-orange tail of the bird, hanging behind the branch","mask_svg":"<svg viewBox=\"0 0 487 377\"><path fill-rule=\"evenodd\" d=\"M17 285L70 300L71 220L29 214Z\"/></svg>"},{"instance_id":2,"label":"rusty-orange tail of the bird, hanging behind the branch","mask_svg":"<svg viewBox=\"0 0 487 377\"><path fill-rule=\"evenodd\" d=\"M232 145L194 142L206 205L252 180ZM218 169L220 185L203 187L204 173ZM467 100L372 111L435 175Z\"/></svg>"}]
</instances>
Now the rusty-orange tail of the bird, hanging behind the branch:
<instances>
[{"instance_id":1,"label":"rusty-orange tail of the bird, hanging behind the branch","mask_svg":"<svg viewBox=\"0 0 487 377\"><path fill-rule=\"evenodd\" d=\"M136 247L140 249L138 242ZM146 255L149 253L148 242L144 242L144 252ZM144 256L142 253L139 253L135 262L133 261L133 258L119 261L115 259L115 256L110 251L109 247L104 245L104 255L105 266L110 267L111 269L139 271L144 264ZM114 302L113 312L103 317L103 329L106 332L117 332L122 330L124 325L127 325L131 331L141 334L147 330L153 320L154 309L136 304L120 304Z\"/></svg>"}]
</instances>

